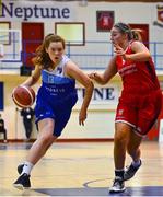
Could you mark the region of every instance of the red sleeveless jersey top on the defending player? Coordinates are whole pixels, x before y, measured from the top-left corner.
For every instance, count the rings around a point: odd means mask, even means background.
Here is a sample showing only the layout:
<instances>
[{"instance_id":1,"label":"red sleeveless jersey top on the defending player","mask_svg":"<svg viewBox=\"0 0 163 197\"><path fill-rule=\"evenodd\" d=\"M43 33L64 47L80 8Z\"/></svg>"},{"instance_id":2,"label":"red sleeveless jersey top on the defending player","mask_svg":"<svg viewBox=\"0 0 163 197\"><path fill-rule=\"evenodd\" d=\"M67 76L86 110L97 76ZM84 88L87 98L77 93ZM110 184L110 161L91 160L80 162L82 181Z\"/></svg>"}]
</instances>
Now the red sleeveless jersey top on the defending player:
<instances>
[{"instance_id":1,"label":"red sleeveless jersey top on the defending player","mask_svg":"<svg viewBox=\"0 0 163 197\"><path fill-rule=\"evenodd\" d=\"M133 54L131 44L126 54ZM123 93L144 94L160 89L152 58L149 61L130 61L117 56L116 65L123 79Z\"/></svg>"}]
</instances>

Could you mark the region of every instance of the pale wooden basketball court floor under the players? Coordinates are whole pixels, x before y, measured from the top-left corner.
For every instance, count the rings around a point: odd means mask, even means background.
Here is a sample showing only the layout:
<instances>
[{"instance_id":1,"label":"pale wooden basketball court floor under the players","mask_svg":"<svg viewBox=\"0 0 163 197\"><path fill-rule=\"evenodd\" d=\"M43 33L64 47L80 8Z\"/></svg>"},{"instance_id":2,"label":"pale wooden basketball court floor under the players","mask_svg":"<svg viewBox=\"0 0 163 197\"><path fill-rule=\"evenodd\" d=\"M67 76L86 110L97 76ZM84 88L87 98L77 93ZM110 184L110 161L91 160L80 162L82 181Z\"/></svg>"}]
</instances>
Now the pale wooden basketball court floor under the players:
<instances>
[{"instance_id":1,"label":"pale wooden basketball court floor under the players","mask_svg":"<svg viewBox=\"0 0 163 197\"><path fill-rule=\"evenodd\" d=\"M31 143L0 143L0 196L110 196L113 142L57 142L33 169L32 188L12 183ZM143 141L142 166L116 196L163 196L163 144ZM130 163L127 157L126 165ZM114 196L114 195L113 195Z\"/></svg>"}]
</instances>

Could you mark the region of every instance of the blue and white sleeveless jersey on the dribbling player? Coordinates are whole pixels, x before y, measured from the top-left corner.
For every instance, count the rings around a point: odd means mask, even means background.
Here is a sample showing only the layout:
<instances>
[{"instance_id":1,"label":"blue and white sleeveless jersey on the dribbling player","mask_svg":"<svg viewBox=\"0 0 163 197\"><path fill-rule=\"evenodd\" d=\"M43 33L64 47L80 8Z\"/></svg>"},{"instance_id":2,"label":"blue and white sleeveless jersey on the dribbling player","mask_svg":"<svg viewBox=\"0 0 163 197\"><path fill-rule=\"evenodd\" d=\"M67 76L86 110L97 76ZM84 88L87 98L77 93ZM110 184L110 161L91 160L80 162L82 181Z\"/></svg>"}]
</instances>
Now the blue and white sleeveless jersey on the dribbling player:
<instances>
[{"instance_id":1,"label":"blue and white sleeveless jersey on the dribbling player","mask_svg":"<svg viewBox=\"0 0 163 197\"><path fill-rule=\"evenodd\" d=\"M70 61L62 56L59 65L53 70L42 70L42 86L37 102L44 100L48 105L60 109L72 108L77 102L75 80L65 76L65 66Z\"/></svg>"}]
</instances>

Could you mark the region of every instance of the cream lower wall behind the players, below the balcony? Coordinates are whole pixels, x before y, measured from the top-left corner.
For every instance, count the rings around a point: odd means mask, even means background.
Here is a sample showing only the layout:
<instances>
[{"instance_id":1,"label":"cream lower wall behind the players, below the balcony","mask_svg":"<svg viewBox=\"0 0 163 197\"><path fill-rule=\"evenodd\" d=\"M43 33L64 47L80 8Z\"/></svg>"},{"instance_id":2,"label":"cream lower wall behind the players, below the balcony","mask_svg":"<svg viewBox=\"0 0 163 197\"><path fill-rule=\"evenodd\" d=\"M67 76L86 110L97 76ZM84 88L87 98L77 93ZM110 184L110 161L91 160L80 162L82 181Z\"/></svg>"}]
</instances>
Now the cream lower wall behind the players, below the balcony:
<instances>
[{"instance_id":1,"label":"cream lower wall behind the players, below the balcony","mask_svg":"<svg viewBox=\"0 0 163 197\"><path fill-rule=\"evenodd\" d=\"M5 121L9 139L25 139L25 131L23 127L22 117L20 112L14 105L11 93L14 86L22 83L26 77L20 77L19 74L0 74L1 81L4 83L4 111L1 111L2 117ZM40 82L34 85L35 92L37 92ZM73 107L73 112L68 126L61 138L113 138L114 134L114 116L117 105L119 92L121 89L121 82L119 77L115 77L109 84L101 86L95 84L94 94L91 101L91 105L88 111L88 119L85 126L79 126L79 111L82 103L82 90L79 83L77 83L79 101ZM34 108L35 104L33 105ZM36 127L33 124L33 136L36 137Z\"/></svg>"}]
</instances>

